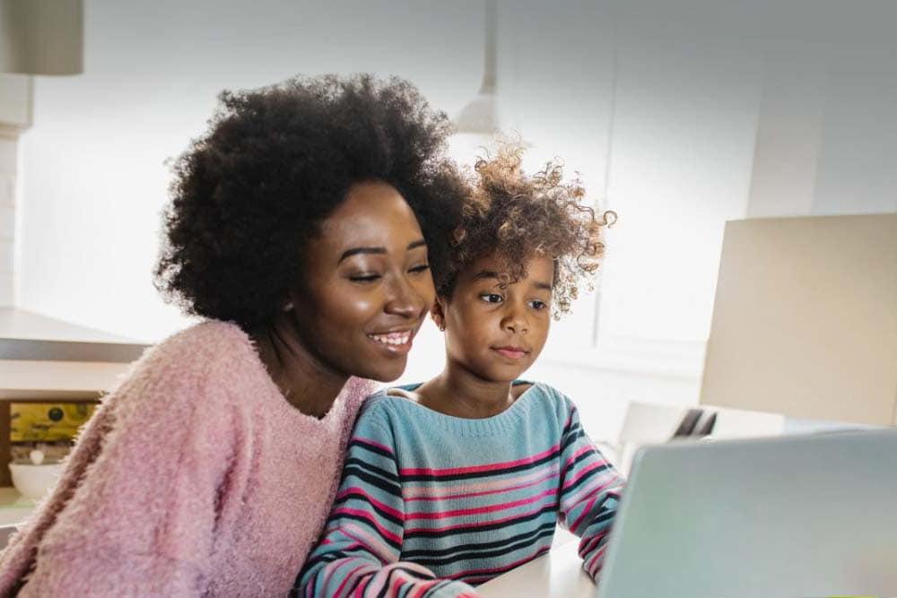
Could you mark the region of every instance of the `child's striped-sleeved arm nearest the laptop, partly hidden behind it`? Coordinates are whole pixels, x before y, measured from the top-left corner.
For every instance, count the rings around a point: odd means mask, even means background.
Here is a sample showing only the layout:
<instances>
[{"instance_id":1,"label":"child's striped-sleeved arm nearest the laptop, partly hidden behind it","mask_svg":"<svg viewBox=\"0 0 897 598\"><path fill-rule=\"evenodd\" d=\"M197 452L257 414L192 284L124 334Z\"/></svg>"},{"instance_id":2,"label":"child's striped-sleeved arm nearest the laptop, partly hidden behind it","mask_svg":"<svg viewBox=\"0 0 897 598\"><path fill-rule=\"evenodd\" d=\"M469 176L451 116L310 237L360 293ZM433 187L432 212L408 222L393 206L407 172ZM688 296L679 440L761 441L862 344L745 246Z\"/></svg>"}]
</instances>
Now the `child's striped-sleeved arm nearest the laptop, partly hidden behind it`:
<instances>
[{"instance_id":1,"label":"child's striped-sleeved arm nearest the laptop, partly hidden behind it","mask_svg":"<svg viewBox=\"0 0 897 598\"><path fill-rule=\"evenodd\" d=\"M563 403L569 411L561 441L561 524L581 539L583 568L597 579L625 480L586 436L576 407Z\"/></svg>"}]
</instances>

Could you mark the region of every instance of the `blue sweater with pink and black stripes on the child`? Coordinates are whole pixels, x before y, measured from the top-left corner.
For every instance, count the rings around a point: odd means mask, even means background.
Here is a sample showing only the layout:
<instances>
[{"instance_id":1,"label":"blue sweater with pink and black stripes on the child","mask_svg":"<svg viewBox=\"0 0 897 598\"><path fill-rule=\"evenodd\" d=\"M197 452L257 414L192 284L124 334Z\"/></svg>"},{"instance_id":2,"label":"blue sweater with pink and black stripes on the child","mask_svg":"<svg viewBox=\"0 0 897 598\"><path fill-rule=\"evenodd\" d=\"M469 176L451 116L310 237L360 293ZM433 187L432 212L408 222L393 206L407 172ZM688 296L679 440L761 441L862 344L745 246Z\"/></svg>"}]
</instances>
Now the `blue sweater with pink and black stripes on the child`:
<instances>
[{"instance_id":1,"label":"blue sweater with pink and black stripes on the child","mask_svg":"<svg viewBox=\"0 0 897 598\"><path fill-rule=\"evenodd\" d=\"M549 550L559 523L581 538L594 578L622 487L551 386L530 386L482 420L380 391L359 416L297 586L307 596L475 595L472 586Z\"/></svg>"}]
</instances>

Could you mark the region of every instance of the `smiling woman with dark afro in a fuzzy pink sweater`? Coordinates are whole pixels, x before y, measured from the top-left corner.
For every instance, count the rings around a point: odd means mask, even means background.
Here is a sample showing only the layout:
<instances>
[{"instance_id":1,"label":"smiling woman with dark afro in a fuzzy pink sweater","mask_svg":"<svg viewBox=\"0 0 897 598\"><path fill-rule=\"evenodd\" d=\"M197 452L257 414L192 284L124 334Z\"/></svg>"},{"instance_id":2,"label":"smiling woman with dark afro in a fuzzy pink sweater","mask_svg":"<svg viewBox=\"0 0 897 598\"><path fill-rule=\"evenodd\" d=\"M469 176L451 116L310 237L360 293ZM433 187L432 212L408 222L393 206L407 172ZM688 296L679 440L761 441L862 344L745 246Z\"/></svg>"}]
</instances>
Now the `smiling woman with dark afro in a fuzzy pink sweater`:
<instances>
[{"instance_id":1,"label":"smiling woman with dark afro in a fuzzy pink sweater","mask_svg":"<svg viewBox=\"0 0 897 598\"><path fill-rule=\"evenodd\" d=\"M147 351L0 557L0 595L286 594L355 412L405 368L460 179L448 123L368 76L224 92L175 168ZM415 218L416 215L416 218Z\"/></svg>"}]
</instances>

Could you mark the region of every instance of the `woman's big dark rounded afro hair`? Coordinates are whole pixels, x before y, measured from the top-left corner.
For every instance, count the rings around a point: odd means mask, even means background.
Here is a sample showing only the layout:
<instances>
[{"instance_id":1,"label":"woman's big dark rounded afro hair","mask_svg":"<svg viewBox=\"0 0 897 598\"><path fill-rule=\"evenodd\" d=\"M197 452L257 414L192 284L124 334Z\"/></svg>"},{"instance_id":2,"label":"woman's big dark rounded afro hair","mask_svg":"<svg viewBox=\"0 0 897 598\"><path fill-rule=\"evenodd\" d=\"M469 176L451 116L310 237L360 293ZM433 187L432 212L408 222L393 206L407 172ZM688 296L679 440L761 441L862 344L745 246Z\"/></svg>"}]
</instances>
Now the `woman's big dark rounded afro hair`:
<instances>
[{"instance_id":1,"label":"woman's big dark rounded afro hair","mask_svg":"<svg viewBox=\"0 0 897 598\"><path fill-rule=\"evenodd\" d=\"M248 330L301 281L309 240L353 184L396 187L444 259L466 186L445 157L448 117L409 82L293 78L223 91L174 165L156 287L187 313Z\"/></svg>"}]
</instances>

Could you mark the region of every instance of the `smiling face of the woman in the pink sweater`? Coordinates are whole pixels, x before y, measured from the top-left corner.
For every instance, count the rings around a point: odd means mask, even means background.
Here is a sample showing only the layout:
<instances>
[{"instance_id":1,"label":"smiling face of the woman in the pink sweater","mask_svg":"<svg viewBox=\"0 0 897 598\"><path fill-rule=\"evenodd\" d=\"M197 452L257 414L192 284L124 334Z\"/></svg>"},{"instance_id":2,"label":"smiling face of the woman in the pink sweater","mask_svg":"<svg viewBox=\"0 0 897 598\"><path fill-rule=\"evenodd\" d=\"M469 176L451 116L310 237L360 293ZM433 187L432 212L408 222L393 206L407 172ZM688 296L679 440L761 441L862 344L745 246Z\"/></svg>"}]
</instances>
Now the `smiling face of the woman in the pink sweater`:
<instances>
[{"instance_id":1,"label":"smiling face of the woman in the pink sweater","mask_svg":"<svg viewBox=\"0 0 897 598\"><path fill-rule=\"evenodd\" d=\"M435 297L427 247L396 188L358 183L309 242L294 330L319 365L382 382L405 371Z\"/></svg>"}]
</instances>

